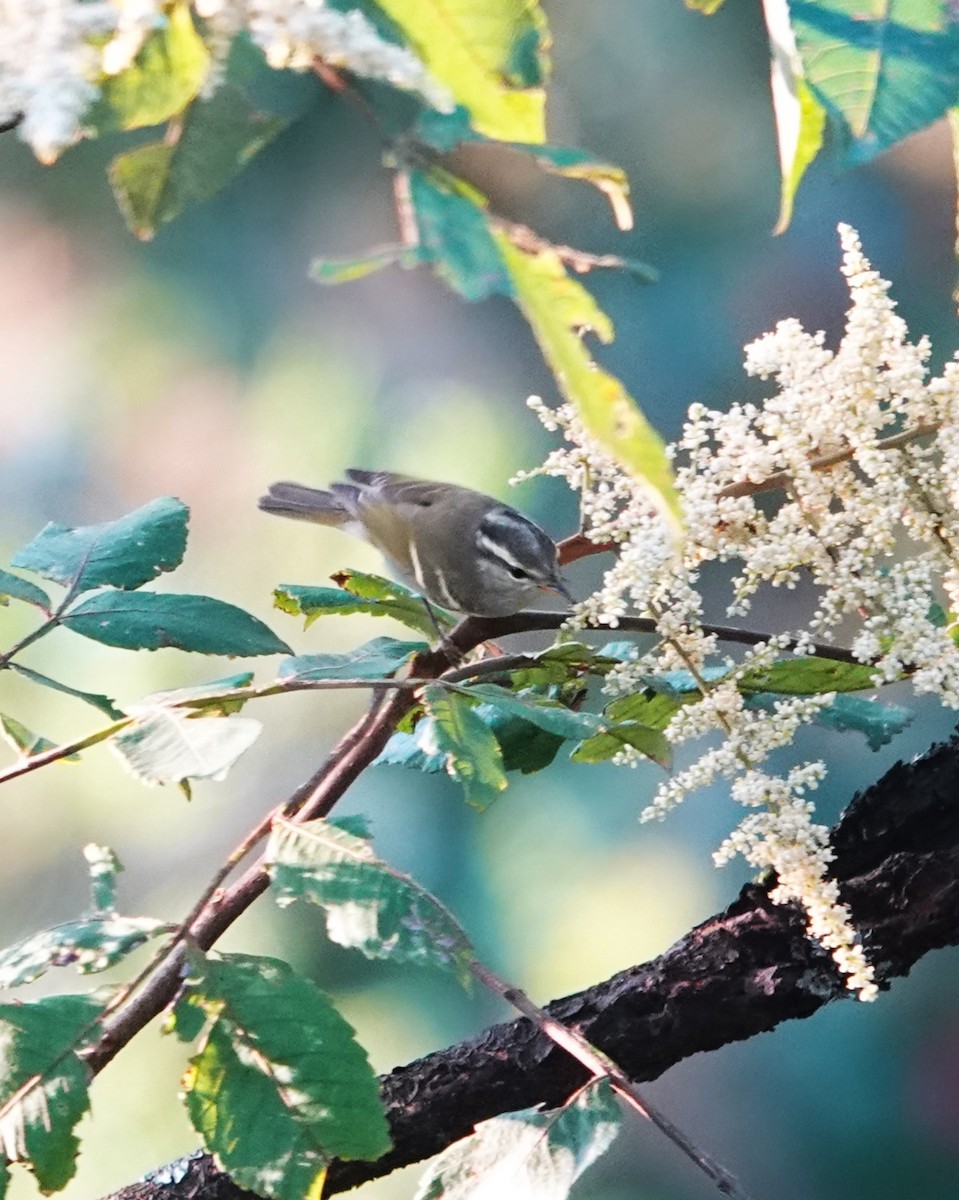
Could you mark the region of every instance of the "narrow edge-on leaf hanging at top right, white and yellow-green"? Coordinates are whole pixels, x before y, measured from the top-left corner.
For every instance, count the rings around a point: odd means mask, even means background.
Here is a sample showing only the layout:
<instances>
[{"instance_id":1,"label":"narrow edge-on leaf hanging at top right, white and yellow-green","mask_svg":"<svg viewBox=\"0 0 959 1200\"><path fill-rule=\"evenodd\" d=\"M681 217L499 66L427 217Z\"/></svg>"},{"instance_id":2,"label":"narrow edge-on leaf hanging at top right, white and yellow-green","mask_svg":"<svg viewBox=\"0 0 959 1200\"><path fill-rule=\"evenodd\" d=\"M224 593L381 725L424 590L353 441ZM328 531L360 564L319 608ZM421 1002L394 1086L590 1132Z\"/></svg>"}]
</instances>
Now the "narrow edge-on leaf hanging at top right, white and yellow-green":
<instances>
[{"instance_id":1,"label":"narrow edge-on leaf hanging at top right, white and yellow-green","mask_svg":"<svg viewBox=\"0 0 959 1200\"><path fill-rule=\"evenodd\" d=\"M807 168L822 149L826 110L803 78L803 65L790 23L787 0L763 0L772 50L771 84L781 176L779 220L773 233L784 233Z\"/></svg>"}]
</instances>

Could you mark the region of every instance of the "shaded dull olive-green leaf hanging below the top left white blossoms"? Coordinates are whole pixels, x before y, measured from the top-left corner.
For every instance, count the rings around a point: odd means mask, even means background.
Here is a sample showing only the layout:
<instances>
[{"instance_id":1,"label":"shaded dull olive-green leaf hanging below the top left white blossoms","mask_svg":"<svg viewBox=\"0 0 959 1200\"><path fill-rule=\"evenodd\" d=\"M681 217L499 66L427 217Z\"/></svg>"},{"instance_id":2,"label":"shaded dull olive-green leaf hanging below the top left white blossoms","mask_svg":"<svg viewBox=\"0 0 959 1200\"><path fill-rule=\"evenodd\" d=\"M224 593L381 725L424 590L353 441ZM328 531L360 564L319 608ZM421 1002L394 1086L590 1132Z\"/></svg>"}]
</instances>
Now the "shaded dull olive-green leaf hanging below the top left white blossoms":
<instances>
[{"instance_id":1,"label":"shaded dull olive-green leaf hanging below the top left white blossoms","mask_svg":"<svg viewBox=\"0 0 959 1200\"><path fill-rule=\"evenodd\" d=\"M143 240L186 209L211 199L288 120L253 110L224 84L184 114L178 136L118 155L110 184L131 232Z\"/></svg>"}]
</instances>

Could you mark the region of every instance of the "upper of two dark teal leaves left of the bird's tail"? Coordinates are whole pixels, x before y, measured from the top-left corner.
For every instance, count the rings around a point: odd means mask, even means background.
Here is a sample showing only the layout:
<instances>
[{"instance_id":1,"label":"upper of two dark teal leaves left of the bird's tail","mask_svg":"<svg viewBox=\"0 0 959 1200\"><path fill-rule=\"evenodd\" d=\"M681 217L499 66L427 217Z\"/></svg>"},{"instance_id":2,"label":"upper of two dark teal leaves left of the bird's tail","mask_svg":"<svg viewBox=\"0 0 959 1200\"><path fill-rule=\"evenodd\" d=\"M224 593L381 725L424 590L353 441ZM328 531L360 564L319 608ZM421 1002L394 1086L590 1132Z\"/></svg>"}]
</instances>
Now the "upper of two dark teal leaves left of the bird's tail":
<instances>
[{"instance_id":1,"label":"upper of two dark teal leaves left of the bird's tail","mask_svg":"<svg viewBox=\"0 0 959 1200\"><path fill-rule=\"evenodd\" d=\"M188 520L190 509L164 496L103 524L50 523L12 563L77 594L104 586L133 589L179 566Z\"/></svg>"}]
</instances>

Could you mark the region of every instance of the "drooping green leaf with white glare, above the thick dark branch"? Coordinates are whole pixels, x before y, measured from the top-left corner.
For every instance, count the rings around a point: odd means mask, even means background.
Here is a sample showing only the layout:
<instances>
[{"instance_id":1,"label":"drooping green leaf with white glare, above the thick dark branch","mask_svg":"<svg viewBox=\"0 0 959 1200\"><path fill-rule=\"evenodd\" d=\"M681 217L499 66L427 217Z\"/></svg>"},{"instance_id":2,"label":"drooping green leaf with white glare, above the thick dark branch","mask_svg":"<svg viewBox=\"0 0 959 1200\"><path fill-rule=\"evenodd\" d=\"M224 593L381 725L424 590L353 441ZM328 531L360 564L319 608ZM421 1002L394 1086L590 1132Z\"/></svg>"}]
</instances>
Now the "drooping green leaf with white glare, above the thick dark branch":
<instances>
[{"instance_id":1,"label":"drooping green leaf with white glare, above the thick dark branch","mask_svg":"<svg viewBox=\"0 0 959 1200\"><path fill-rule=\"evenodd\" d=\"M319 905L331 941L368 959L440 967L469 980L473 949L456 918L378 859L367 839L328 821L278 821L265 858L278 902Z\"/></svg>"}]
</instances>

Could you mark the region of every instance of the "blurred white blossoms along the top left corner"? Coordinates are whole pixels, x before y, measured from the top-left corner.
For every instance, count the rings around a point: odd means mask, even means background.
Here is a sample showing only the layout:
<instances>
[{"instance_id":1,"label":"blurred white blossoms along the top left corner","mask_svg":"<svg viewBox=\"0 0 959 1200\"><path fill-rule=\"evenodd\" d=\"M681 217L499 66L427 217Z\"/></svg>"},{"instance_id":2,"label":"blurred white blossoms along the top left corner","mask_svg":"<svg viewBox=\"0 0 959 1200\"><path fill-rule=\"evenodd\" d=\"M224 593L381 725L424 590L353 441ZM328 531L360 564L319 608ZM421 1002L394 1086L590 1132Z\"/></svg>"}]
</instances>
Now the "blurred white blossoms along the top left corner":
<instances>
[{"instance_id":1,"label":"blurred white blossoms along the top left corner","mask_svg":"<svg viewBox=\"0 0 959 1200\"><path fill-rule=\"evenodd\" d=\"M20 137L52 162L83 136L104 78L131 66L170 8L170 0L0 0L0 121L19 119ZM325 0L197 0L193 8L212 50L211 84L224 47L246 31L274 67L307 71L322 59L419 92L442 112L454 107L422 61L359 10Z\"/></svg>"}]
</instances>

